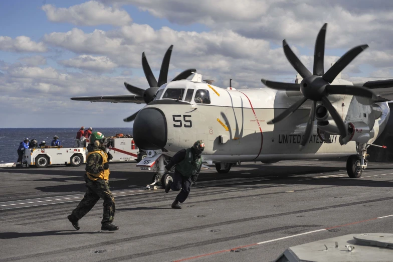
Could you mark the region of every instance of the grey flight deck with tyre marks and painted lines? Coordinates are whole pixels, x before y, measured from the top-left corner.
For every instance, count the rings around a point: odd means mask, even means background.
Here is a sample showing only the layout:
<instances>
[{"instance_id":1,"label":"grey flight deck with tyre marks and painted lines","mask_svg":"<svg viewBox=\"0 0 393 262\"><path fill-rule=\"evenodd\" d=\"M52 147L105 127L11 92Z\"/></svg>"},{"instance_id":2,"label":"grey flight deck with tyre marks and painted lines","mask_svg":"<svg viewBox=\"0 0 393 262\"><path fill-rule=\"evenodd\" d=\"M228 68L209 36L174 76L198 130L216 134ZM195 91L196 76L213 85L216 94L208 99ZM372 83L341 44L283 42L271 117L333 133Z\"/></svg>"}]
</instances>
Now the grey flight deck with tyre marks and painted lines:
<instances>
[{"instance_id":1,"label":"grey flight deck with tyre marks and painted lines","mask_svg":"<svg viewBox=\"0 0 393 262\"><path fill-rule=\"evenodd\" d=\"M151 172L111 164L115 232L102 232L102 200L79 221L84 166L0 169L2 261L273 261L286 248L351 233L393 233L393 165L244 163L204 169L181 210L176 192L145 190ZM323 249L323 248L322 248ZM393 251L392 251L393 252Z\"/></svg>"}]
</instances>

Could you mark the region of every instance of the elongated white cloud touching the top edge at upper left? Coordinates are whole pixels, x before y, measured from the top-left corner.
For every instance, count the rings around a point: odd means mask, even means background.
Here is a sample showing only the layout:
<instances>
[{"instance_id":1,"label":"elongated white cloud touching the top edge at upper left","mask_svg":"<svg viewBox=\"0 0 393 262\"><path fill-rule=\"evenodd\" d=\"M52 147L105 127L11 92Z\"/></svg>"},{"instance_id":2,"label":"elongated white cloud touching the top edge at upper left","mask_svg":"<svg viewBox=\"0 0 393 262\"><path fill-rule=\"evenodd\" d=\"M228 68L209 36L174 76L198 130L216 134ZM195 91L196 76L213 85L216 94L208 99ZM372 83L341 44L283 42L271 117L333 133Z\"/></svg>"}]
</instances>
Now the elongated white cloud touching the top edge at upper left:
<instances>
[{"instance_id":1,"label":"elongated white cloud touching the top edge at upper left","mask_svg":"<svg viewBox=\"0 0 393 262\"><path fill-rule=\"evenodd\" d=\"M70 8L56 8L44 5L47 18L51 22L72 23L78 26L113 25L122 26L132 22L124 10L104 6L96 1L89 1Z\"/></svg>"}]
</instances>

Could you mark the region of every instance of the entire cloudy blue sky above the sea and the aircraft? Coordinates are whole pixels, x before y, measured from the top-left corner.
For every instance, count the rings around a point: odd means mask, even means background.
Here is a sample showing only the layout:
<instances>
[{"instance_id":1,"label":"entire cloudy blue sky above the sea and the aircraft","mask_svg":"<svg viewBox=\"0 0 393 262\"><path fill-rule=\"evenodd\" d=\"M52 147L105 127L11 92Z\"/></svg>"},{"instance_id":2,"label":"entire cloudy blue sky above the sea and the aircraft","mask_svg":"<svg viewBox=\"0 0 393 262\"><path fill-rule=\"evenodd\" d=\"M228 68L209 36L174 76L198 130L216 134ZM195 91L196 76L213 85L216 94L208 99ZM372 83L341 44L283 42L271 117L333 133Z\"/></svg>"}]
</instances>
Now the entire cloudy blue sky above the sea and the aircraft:
<instances>
[{"instance_id":1,"label":"entire cloudy blue sky above the sea and the aircraft","mask_svg":"<svg viewBox=\"0 0 393 262\"><path fill-rule=\"evenodd\" d=\"M315 38L328 23L325 71L368 44L342 72L354 82L393 78L393 1L13 0L0 3L0 127L129 127L143 105L72 101L147 88L141 53L158 78L173 44L168 80L187 68L221 87L293 82L282 40L312 71ZM368 78L367 78L368 77Z\"/></svg>"}]
</instances>

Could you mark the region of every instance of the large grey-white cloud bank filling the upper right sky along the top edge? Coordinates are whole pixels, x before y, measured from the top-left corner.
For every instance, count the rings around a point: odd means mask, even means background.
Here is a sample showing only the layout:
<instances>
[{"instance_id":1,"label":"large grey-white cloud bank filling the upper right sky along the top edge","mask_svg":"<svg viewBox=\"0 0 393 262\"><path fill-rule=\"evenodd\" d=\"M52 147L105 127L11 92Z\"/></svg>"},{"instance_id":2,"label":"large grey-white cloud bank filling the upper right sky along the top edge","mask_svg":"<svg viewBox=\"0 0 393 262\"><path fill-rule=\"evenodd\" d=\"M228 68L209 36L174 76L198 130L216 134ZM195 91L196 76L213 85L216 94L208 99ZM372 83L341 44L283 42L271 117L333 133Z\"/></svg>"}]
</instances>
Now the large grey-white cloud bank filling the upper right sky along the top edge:
<instances>
[{"instance_id":1,"label":"large grey-white cloud bank filling the upper right sky along the top edge","mask_svg":"<svg viewBox=\"0 0 393 262\"><path fill-rule=\"evenodd\" d=\"M329 23L328 48L368 43L391 48L393 2L340 0L101 0L131 4L173 24L202 24L212 30L229 29L248 38L313 47L323 23ZM345 36L345 37L341 37ZM383 37L381 37L383 36Z\"/></svg>"}]
</instances>

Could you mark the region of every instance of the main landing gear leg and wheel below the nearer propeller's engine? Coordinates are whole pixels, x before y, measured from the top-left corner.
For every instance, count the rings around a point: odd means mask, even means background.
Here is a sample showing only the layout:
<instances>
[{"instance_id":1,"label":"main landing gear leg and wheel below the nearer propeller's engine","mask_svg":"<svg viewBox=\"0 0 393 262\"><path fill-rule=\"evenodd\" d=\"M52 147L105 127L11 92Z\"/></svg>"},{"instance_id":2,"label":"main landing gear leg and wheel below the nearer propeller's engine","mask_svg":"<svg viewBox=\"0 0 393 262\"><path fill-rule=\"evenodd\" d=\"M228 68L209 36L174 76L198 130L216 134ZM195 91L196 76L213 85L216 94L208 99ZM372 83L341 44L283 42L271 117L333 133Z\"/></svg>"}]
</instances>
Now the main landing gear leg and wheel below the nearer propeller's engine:
<instances>
[{"instance_id":1,"label":"main landing gear leg and wheel below the nearer propeller's engine","mask_svg":"<svg viewBox=\"0 0 393 262\"><path fill-rule=\"evenodd\" d=\"M370 145L356 143L358 155L349 156L346 161L346 172L350 178L359 178L363 170L367 168L367 148Z\"/></svg>"}]
</instances>

